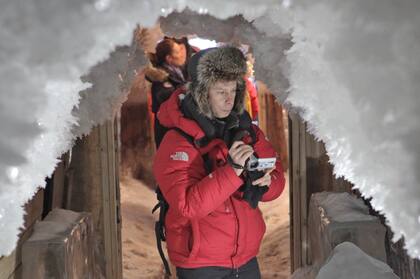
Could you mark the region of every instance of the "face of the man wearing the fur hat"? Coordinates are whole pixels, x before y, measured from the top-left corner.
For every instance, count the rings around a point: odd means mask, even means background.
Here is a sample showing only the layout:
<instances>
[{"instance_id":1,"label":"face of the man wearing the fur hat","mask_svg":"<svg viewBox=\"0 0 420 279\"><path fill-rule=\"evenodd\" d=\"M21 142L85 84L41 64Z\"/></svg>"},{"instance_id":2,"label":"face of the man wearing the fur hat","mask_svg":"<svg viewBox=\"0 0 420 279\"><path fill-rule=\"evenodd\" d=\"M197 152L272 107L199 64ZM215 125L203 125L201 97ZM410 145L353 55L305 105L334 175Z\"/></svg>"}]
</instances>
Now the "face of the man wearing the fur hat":
<instances>
[{"instance_id":1,"label":"face of the man wearing the fur hat","mask_svg":"<svg viewBox=\"0 0 420 279\"><path fill-rule=\"evenodd\" d=\"M236 81L217 81L209 89L209 103L214 116L227 117L235 105Z\"/></svg>"}]
</instances>

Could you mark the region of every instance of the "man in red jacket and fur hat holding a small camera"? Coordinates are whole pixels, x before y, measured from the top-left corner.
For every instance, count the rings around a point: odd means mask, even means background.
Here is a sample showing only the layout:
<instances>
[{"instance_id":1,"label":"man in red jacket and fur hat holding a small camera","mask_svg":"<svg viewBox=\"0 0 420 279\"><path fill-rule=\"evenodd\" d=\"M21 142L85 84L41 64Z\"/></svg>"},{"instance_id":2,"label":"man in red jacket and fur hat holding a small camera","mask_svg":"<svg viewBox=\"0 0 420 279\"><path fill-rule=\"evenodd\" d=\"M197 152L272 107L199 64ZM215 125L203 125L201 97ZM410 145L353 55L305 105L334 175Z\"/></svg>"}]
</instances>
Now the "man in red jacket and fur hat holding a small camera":
<instances>
[{"instance_id":1,"label":"man in red jacket and fur hat holding a small camera","mask_svg":"<svg viewBox=\"0 0 420 279\"><path fill-rule=\"evenodd\" d=\"M257 205L277 198L285 179L280 162L260 178L244 170L251 155L276 157L244 112L246 60L234 47L208 49L191 58L188 72L188 89L158 112L170 128L153 165L169 204L169 258L182 279L258 279L265 223Z\"/></svg>"}]
</instances>

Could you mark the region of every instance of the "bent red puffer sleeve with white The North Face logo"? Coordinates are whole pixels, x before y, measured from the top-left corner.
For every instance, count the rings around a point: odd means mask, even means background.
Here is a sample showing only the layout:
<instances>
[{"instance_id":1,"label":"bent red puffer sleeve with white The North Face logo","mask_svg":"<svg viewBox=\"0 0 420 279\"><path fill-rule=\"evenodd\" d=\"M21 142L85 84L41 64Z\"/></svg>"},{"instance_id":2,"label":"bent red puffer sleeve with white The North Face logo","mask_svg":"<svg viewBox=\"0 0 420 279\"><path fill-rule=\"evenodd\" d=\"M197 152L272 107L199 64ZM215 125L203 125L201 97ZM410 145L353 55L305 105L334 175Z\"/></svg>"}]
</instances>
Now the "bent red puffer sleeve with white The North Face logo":
<instances>
[{"instance_id":1,"label":"bent red puffer sleeve with white The North Face logo","mask_svg":"<svg viewBox=\"0 0 420 279\"><path fill-rule=\"evenodd\" d=\"M207 175L199 151L176 131L162 141L153 172L169 207L189 219L208 215L243 184L229 165Z\"/></svg>"}]
</instances>

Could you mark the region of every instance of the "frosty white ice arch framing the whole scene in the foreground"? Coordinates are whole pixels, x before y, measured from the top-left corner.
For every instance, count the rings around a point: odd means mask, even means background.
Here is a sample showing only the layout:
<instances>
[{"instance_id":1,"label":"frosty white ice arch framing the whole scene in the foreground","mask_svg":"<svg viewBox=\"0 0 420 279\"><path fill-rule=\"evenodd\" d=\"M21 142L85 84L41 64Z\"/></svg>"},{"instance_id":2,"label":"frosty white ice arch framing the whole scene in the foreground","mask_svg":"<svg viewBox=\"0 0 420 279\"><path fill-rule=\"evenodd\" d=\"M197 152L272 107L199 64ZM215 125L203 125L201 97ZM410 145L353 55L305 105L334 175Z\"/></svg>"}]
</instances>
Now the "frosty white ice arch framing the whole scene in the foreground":
<instances>
[{"instance_id":1,"label":"frosty white ice arch framing the whole scene in the foreground","mask_svg":"<svg viewBox=\"0 0 420 279\"><path fill-rule=\"evenodd\" d=\"M253 23L243 22L236 34L257 43L257 75L279 99L287 97L304 112L311 131L326 142L335 172L373 197L397 237L405 235L411 255L418 256L420 2L190 2L198 13L220 19L242 14ZM130 45L136 23L151 25L186 5L184 0L2 1L0 254L13 250L21 206L44 185L56 158L124 99L117 77L130 63L125 56L130 51L114 52L115 47ZM95 65L103 68L89 75ZM108 70L98 76L101 69ZM102 83L108 74L111 80ZM81 76L98 90L88 89ZM287 78L290 88L284 92ZM79 104L81 98L90 100ZM75 123L80 129L73 129Z\"/></svg>"}]
</instances>

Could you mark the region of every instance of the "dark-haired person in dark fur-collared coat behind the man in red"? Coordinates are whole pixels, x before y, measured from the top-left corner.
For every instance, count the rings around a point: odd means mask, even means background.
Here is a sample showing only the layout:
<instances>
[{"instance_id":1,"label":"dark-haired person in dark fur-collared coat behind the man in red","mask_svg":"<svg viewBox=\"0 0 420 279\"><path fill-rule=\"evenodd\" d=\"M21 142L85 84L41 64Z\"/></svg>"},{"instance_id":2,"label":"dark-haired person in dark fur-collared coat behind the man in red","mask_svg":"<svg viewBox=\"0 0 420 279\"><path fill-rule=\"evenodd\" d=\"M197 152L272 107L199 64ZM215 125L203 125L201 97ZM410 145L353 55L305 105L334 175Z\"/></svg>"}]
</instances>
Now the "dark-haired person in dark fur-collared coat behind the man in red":
<instances>
[{"instance_id":1,"label":"dark-haired person in dark fur-collared coat behind the man in red","mask_svg":"<svg viewBox=\"0 0 420 279\"><path fill-rule=\"evenodd\" d=\"M186 64L197 51L191 47L186 37L181 39L164 37L156 45L155 53L147 53L150 65L145 69L146 80L152 83L152 112L154 113L154 135L156 147L159 147L167 129L156 117L160 105L172 92L185 85L188 80Z\"/></svg>"}]
</instances>

